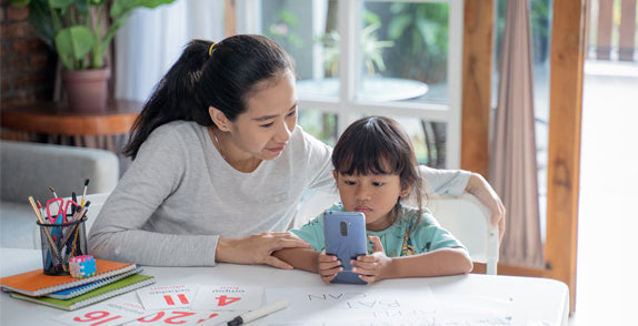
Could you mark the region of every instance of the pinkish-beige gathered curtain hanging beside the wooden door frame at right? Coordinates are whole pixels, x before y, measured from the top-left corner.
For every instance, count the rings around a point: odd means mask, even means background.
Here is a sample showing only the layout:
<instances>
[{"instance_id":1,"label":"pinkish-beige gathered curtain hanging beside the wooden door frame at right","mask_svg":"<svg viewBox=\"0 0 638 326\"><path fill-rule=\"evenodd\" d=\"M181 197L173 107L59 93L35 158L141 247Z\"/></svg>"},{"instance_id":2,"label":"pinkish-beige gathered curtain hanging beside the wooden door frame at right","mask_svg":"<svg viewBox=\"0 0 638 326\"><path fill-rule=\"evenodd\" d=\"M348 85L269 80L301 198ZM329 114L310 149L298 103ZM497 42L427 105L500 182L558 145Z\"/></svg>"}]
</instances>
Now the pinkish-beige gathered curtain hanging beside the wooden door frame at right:
<instances>
[{"instance_id":1,"label":"pinkish-beige gathered curtain hanging beside the wooden door frame at right","mask_svg":"<svg viewBox=\"0 0 638 326\"><path fill-rule=\"evenodd\" d=\"M490 157L490 183L507 208L500 262L542 265L538 208L529 8L507 1L499 65L498 104Z\"/></svg>"}]
</instances>

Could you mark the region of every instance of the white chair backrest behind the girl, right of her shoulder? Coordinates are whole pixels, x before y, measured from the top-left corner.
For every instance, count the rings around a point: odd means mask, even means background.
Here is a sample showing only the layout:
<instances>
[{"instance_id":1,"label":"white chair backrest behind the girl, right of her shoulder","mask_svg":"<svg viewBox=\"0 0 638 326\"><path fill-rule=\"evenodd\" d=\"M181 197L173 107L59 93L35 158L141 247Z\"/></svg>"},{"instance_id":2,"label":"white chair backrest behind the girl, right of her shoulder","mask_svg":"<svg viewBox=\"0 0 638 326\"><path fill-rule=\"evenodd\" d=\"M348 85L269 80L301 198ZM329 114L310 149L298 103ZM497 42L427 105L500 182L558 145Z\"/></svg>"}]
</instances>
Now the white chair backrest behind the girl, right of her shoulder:
<instances>
[{"instance_id":1,"label":"white chair backrest behind the girl, right of her shoulder","mask_svg":"<svg viewBox=\"0 0 638 326\"><path fill-rule=\"evenodd\" d=\"M460 240L473 262L485 263L487 274L496 275L498 228L490 223L491 212L473 195L428 198L427 205L443 228Z\"/></svg>"}]
</instances>

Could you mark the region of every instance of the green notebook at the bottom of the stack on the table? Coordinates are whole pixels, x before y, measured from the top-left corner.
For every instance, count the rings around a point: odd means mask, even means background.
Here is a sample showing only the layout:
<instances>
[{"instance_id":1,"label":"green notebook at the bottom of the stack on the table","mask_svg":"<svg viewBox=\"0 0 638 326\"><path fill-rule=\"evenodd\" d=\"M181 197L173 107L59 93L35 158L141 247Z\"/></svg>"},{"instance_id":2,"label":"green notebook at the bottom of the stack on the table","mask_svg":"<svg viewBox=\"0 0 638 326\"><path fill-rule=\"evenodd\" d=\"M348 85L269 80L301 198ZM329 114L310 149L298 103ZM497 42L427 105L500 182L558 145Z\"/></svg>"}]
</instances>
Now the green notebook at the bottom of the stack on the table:
<instances>
[{"instance_id":1,"label":"green notebook at the bottom of the stack on the table","mask_svg":"<svg viewBox=\"0 0 638 326\"><path fill-rule=\"evenodd\" d=\"M153 283L156 283L156 278L153 276L136 274L68 300L50 297L32 297L19 293L11 293L11 297L47 305L58 309L74 310Z\"/></svg>"}]
</instances>

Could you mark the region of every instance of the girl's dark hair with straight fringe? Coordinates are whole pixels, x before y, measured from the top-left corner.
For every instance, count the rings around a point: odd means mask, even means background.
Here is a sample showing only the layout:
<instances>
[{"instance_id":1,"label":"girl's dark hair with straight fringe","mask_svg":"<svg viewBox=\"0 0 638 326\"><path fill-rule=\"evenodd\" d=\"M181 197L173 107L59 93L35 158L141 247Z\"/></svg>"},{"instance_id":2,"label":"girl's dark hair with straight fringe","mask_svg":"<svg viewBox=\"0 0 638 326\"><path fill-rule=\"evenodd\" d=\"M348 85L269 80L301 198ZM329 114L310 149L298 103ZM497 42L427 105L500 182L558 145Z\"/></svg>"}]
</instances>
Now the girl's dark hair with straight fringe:
<instances>
[{"instance_id":1,"label":"girl's dark hair with straight fringe","mask_svg":"<svg viewBox=\"0 0 638 326\"><path fill-rule=\"evenodd\" d=\"M419 208L412 227L420 222L425 196L418 164L412 142L405 129L386 116L357 120L346 129L332 151L332 165L340 174L395 174L399 175L401 190L411 185L411 195ZM392 223L398 216L400 202L401 197L390 214Z\"/></svg>"}]
</instances>

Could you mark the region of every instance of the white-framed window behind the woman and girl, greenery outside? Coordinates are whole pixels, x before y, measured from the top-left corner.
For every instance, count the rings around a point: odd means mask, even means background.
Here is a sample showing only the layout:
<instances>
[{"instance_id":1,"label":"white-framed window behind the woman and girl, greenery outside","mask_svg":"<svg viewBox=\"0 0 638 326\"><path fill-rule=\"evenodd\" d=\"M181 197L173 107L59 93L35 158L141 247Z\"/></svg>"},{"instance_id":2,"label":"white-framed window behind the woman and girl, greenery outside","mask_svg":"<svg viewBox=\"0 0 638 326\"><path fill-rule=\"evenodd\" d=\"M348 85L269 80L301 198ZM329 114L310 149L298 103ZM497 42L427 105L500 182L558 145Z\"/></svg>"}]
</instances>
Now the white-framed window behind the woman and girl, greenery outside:
<instances>
[{"instance_id":1,"label":"white-framed window behind the woman and girl, greenery outside","mask_svg":"<svg viewBox=\"0 0 638 326\"><path fill-rule=\"evenodd\" d=\"M460 166L462 1L240 0L238 33L296 61L299 124L328 144L363 115L398 120L419 162Z\"/></svg>"}]
</instances>

